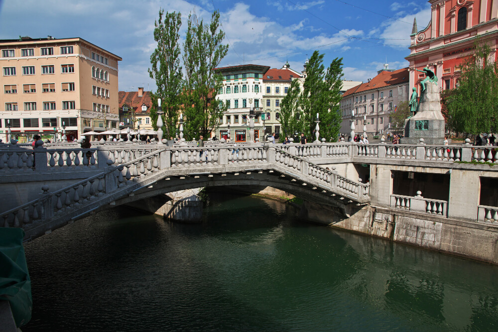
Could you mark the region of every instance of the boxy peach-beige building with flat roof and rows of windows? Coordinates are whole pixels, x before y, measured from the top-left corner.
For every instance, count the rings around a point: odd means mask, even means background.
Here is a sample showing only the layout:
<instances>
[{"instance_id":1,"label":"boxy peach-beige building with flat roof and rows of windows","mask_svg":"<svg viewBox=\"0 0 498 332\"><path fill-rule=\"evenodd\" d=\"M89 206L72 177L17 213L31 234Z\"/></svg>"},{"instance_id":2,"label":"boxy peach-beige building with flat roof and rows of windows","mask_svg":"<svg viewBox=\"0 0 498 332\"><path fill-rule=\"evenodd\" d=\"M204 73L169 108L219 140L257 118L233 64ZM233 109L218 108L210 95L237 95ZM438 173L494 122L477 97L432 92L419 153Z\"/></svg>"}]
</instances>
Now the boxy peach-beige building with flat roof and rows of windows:
<instances>
[{"instance_id":1,"label":"boxy peach-beige building with flat roof and rows of windows","mask_svg":"<svg viewBox=\"0 0 498 332\"><path fill-rule=\"evenodd\" d=\"M68 140L119 126L118 61L82 38L0 40L0 138Z\"/></svg>"}]
</instances>

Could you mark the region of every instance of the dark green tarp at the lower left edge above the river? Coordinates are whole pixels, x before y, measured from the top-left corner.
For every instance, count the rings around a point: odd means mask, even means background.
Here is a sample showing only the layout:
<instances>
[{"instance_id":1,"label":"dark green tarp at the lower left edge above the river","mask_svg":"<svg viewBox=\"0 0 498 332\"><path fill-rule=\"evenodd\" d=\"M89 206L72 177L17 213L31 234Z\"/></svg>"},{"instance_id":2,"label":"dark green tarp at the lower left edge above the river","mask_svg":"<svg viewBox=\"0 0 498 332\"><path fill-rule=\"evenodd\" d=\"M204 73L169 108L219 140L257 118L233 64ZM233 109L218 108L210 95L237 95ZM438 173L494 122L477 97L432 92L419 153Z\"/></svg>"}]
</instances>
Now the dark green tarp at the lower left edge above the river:
<instances>
[{"instance_id":1,"label":"dark green tarp at the lower left edge above the river","mask_svg":"<svg viewBox=\"0 0 498 332\"><path fill-rule=\"evenodd\" d=\"M33 306L23 237L22 228L0 227L0 300L10 303L17 327L29 322Z\"/></svg>"}]
</instances>

